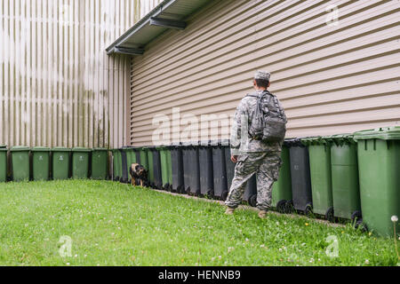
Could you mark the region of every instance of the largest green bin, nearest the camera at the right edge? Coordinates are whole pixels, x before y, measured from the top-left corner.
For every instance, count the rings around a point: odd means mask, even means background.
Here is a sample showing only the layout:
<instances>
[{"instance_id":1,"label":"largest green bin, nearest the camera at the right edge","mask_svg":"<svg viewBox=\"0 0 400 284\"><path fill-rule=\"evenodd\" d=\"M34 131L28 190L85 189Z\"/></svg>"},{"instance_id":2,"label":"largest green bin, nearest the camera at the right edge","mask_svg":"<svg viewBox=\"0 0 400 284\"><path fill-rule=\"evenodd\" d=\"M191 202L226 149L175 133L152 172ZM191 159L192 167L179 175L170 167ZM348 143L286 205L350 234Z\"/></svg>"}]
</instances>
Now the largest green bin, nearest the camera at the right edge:
<instances>
[{"instance_id":1,"label":"largest green bin, nearest the camera at the right edge","mask_svg":"<svg viewBox=\"0 0 400 284\"><path fill-rule=\"evenodd\" d=\"M381 236L400 235L400 127L359 131L357 141L363 222Z\"/></svg>"}]
</instances>

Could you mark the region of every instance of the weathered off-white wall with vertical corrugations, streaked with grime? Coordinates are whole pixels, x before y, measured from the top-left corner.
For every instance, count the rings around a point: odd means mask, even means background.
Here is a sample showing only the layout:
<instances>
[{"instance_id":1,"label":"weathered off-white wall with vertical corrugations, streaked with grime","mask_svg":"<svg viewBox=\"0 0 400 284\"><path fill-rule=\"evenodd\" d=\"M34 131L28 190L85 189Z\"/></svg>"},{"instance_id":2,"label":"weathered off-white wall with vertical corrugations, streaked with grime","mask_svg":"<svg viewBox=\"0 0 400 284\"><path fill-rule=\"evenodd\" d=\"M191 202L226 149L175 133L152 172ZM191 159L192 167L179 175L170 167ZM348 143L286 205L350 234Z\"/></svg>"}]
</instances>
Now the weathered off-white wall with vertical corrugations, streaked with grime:
<instances>
[{"instance_id":1,"label":"weathered off-white wall with vertical corrugations, streaked with grime","mask_svg":"<svg viewBox=\"0 0 400 284\"><path fill-rule=\"evenodd\" d=\"M158 2L0 0L0 144L129 144L130 59L105 49Z\"/></svg>"}]
</instances>

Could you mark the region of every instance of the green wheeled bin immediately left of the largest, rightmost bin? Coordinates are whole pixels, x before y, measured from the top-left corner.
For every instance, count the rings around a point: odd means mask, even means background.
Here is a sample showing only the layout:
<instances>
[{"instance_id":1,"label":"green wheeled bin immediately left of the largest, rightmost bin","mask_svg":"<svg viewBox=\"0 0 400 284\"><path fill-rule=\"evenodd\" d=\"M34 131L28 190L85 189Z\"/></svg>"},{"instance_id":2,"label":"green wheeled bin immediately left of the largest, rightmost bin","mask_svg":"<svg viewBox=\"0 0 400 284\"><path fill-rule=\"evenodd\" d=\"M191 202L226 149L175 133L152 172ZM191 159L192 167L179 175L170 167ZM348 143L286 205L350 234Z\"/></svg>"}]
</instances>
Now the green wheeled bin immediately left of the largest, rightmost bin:
<instances>
[{"instance_id":1,"label":"green wheeled bin immediately left of the largest, rightmost bin","mask_svg":"<svg viewBox=\"0 0 400 284\"><path fill-rule=\"evenodd\" d=\"M351 134L332 135L332 198L334 216L361 224L356 141Z\"/></svg>"}]
</instances>

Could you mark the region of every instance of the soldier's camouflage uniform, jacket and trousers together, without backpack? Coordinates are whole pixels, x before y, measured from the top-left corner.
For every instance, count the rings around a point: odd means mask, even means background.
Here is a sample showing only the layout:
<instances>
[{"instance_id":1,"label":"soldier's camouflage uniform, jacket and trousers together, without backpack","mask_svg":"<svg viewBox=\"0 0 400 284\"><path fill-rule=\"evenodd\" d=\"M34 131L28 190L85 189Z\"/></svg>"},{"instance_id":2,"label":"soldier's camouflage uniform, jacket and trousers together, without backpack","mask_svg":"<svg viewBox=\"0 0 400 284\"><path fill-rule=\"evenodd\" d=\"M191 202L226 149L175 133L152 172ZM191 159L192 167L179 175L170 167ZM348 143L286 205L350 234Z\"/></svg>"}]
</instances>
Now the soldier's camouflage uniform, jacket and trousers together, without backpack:
<instances>
[{"instance_id":1,"label":"soldier's camouflage uniform, jacket and trousers together, without backpack","mask_svg":"<svg viewBox=\"0 0 400 284\"><path fill-rule=\"evenodd\" d=\"M236 208L241 203L247 181L256 174L257 208L268 210L271 206L272 185L279 176L282 143L265 143L248 135L249 122L252 121L256 105L257 98L246 96L236 108L231 131L231 154L238 155L238 158L235 177L225 201L229 208ZM280 103L279 106L282 107Z\"/></svg>"}]
</instances>

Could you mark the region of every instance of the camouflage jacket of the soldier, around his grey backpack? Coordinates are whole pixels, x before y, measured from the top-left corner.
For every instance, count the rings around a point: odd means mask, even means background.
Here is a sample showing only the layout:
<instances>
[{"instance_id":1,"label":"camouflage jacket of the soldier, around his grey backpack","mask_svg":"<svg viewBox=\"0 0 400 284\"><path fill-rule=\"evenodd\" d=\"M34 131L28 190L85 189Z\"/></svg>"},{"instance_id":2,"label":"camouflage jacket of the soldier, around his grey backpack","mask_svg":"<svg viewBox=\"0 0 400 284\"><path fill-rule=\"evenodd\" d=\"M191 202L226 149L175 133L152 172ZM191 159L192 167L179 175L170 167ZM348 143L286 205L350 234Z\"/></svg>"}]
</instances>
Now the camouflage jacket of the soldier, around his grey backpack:
<instances>
[{"instance_id":1,"label":"camouflage jacket of the soldier, around his grey backpack","mask_svg":"<svg viewBox=\"0 0 400 284\"><path fill-rule=\"evenodd\" d=\"M259 92L260 93L260 92ZM279 102L279 101L278 101ZM281 103L279 102L279 105ZM281 143L265 143L250 138L249 127L257 106L257 98L246 96L236 108L236 114L230 132L231 154L241 155L254 152L281 152ZM280 105L282 106L282 105Z\"/></svg>"}]
</instances>

